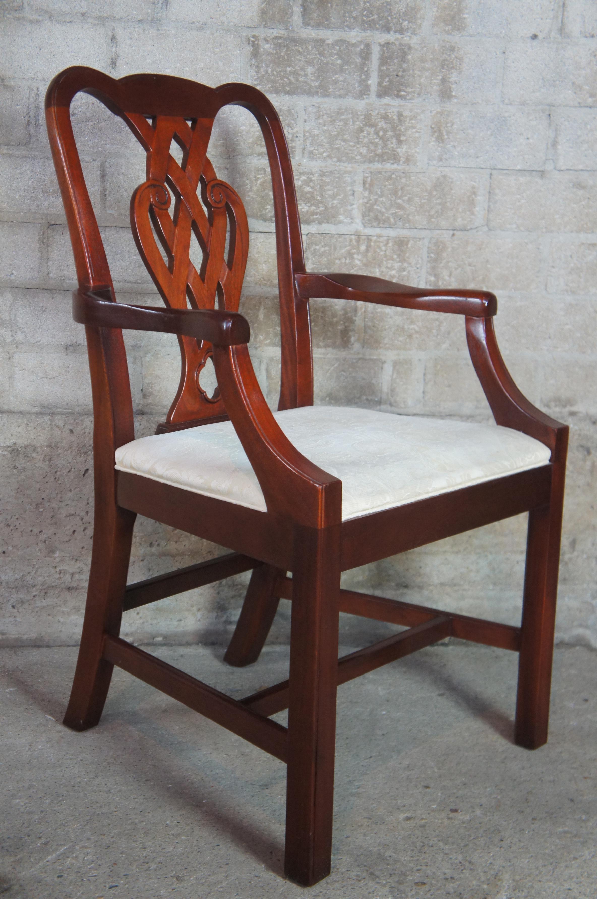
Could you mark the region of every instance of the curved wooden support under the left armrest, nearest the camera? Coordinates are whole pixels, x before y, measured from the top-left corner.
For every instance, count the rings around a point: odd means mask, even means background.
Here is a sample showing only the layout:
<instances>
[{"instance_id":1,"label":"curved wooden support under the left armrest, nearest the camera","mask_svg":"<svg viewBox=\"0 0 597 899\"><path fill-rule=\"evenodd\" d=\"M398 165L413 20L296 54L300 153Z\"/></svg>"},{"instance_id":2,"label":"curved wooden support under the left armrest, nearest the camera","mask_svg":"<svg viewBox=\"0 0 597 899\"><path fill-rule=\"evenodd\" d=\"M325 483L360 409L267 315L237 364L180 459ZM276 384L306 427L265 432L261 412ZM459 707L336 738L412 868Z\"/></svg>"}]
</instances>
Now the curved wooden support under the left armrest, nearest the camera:
<instances>
[{"instance_id":1,"label":"curved wooden support under the left armrest, nearest the camera","mask_svg":"<svg viewBox=\"0 0 597 899\"><path fill-rule=\"evenodd\" d=\"M268 512L324 528L342 519L342 481L298 452L272 415L246 344L214 346L218 387Z\"/></svg>"}]
</instances>

